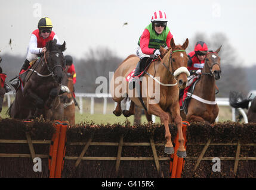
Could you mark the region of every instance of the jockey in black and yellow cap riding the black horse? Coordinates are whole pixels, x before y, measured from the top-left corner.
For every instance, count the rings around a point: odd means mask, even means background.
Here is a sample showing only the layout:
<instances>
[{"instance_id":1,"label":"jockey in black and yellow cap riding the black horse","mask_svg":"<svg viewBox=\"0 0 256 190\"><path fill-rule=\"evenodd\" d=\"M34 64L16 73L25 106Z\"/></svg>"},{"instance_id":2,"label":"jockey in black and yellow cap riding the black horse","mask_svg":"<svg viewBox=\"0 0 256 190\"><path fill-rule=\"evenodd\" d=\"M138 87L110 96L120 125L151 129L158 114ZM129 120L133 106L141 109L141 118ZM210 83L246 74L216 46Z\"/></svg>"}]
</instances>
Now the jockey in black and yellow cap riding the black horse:
<instances>
[{"instance_id":1,"label":"jockey in black and yellow cap riding the black horse","mask_svg":"<svg viewBox=\"0 0 256 190\"><path fill-rule=\"evenodd\" d=\"M24 64L21 66L20 72L18 75L22 74L29 68L29 63L36 58L41 53L45 53L47 51L47 48L45 45L50 40L57 40L57 45L61 45L60 40L58 40L57 35L52 31L53 24L51 22L51 19L48 17L41 18L38 22L38 29L34 30L31 34L30 40L29 40L29 47L27 48L27 56L26 60L24 61ZM26 76L24 76L26 77ZM20 86L20 79L19 77L15 78L13 81L11 81L11 85L16 89ZM65 92L66 87L61 85L61 93Z\"/></svg>"}]
</instances>

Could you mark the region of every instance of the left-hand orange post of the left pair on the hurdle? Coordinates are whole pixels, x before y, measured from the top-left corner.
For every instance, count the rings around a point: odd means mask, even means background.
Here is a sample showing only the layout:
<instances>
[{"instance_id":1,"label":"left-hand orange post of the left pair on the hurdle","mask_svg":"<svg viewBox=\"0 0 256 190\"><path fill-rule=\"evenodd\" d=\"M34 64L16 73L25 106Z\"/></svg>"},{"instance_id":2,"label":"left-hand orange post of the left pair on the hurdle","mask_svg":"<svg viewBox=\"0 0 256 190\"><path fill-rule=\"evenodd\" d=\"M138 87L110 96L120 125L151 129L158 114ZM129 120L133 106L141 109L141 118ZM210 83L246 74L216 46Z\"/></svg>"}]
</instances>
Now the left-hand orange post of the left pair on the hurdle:
<instances>
[{"instance_id":1,"label":"left-hand orange post of the left pair on the hurdle","mask_svg":"<svg viewBox=\"0 0 256 190\"><path fill-rule=\"evenodd\" d=\"M56 161L57 161L58 141L60 138L61 122L55 121L53 125L56 131L53 134L52 143L51 143L52 145L50 145L50 154L52 155L51 157L49 156L49 166L50 166L49 178L55 177L55 167L56 167Z\"/></svg>"}]
</instances>

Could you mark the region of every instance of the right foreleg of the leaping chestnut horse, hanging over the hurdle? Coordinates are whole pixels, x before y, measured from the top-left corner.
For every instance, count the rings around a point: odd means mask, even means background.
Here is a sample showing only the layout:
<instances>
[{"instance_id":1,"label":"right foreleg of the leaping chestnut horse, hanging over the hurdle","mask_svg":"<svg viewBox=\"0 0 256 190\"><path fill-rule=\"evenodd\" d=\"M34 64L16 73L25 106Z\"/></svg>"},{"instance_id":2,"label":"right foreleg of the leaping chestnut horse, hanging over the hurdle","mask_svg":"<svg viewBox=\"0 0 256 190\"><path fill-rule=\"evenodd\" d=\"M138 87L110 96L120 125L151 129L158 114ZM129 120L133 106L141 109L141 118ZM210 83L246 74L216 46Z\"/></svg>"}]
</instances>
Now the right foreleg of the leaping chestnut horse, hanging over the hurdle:
<instances>
[{"instance_id":1,"label":"right foreleg of the leaping chestnut horse, hanging over the hurdle","mask_svg":"<svg viewBox=\"0 0 256 190\"><path fill-rule=\"evenodd\" d=\"M184 147L184 137L183 137L183 132L182 132L182 119L180 116L180 105L176 103L175 105L172 105L170 107L170 112L171 112L171 117L174 121L174 123L177 126L178 130L178 143L180 144L178 149L177 149L177 156L184 158L187 156L186 149Z\"/></svg>"}]
</instances>

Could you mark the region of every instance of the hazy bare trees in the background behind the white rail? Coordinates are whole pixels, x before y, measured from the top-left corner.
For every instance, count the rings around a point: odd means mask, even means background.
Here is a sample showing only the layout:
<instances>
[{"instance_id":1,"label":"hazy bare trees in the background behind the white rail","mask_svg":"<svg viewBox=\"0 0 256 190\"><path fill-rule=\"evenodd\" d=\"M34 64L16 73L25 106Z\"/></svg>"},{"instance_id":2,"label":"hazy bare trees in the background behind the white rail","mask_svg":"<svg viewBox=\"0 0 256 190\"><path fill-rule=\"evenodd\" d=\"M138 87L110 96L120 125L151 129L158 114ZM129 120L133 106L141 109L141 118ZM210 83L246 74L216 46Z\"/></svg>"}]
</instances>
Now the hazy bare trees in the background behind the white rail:
<instances>
[{"instance_id":1,"label":"hazy bare trees in the background behind the white rail","mask_svg":"<svg viewBox=\"0 0 256 190\"><path fill-rule=\"evenodd\" d=\"M242 91L242 93L248 94L250 90L256 89L254 83L256 81L256 75L254 74L256 65L246 67L243 60L238 56L238 50L230 45L225 34L214 33L211 36L206 36L203 33L196 33L192 39L189 39L187 53L194 49L198 41L204 41L209 50L217 50L222 45L219 53L222 73L220 80L217 81L220 90L217 97L229 97L230 90ZM64 55L66 55L65 52ZM8 83L20 71L26 55L1 54L0 56L2 58L0 66L3 72L7 74L6 81ZM73 64L77 74L76 92L95 93L95 88L99 85L95 84L96 78L104 76L109 81L109 72L114 72L124 59L115 55L109 47L89 49L82 59L76 59L73 56Z\"/></svg>"}]
</instances>

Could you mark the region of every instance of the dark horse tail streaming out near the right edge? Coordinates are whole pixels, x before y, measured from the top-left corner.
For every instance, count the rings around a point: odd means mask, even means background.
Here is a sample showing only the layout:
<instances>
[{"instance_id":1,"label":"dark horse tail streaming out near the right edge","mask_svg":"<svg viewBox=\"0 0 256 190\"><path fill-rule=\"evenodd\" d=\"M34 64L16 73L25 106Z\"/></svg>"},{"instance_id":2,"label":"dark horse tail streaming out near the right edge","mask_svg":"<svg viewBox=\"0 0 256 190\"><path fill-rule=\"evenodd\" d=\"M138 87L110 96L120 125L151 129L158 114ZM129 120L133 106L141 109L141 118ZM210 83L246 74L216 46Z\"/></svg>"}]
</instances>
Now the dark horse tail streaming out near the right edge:
<instances>
[{"instance_id":1,"label":"dark horse tail streaming out near the right edge","mask_svg":"<svg viewBox=\"0 0 256 190\"><path fill-rule=\"evenodd\" d=\"M244 99L242 93L236 91L230 91L229 93L229 104L234 108L246 108L249 107L251 99Z\"/></svg>"}]
</instances>

